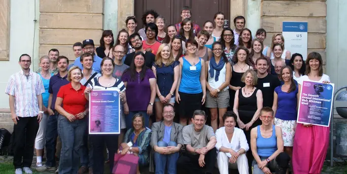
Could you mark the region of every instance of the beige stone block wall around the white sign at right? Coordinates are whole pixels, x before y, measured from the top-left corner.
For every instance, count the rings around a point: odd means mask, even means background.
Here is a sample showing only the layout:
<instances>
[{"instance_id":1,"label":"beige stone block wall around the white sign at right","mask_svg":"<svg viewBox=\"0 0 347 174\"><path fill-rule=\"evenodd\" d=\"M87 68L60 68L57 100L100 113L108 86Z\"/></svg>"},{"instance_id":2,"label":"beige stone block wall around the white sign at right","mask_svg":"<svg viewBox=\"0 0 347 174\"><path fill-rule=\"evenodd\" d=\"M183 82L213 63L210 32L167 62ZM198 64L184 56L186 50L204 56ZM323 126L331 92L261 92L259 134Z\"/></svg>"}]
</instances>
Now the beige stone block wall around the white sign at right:
<instances>
[{"instance_id":1,"label":"beige stone block wall around the white sign at right","mask_svg":"<svg viewBox=\"0 0 347 174\"><path fill-rule=\"evenodd\" d=\"M272 35L282 32L283 21L306 21L308 22L307 54L313 51L319 52L325 65L326 16L327 6L325 0L263 0L261 21L262 27L267 31L264 44L270 45Z\"/></svg>"}]
</instances>

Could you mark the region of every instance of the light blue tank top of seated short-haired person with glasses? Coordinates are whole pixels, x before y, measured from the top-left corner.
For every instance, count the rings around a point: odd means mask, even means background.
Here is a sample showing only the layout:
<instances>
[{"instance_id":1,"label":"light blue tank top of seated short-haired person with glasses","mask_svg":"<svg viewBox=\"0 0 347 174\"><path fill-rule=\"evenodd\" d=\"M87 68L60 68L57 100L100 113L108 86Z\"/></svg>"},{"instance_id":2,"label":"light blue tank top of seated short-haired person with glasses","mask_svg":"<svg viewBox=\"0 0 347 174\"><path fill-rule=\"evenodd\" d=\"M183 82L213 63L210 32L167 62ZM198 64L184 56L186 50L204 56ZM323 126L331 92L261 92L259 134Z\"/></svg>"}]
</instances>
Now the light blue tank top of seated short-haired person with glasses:
<instances>
[{"instance_id":1,"label":"light blue tank top of seated short-haired person with glasses","mask_svg":"<svg viewBox=\"0 0 347 174\"><path fill-rule=\"evenodd\" d=\"M277 150L276 129L272 125L272 135L264 138L260 133L260 125L257 126L257 153L261 157L269 157Z\"/></svg>"}]
</instances>

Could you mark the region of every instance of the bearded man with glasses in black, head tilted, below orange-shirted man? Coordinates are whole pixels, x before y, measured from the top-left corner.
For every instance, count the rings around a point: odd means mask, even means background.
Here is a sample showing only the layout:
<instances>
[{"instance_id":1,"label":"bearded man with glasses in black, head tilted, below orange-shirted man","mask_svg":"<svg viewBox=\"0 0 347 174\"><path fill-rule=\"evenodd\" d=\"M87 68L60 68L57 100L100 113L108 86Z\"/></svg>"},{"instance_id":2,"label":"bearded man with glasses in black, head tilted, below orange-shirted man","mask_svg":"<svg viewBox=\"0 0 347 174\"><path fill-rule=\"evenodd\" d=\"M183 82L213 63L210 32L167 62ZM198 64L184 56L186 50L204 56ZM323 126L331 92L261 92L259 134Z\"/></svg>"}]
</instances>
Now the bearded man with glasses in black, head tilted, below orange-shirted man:
<instances>
[{"instance_id":1,"label":"bearded man with glasses in black, head tilted, below orange-shirted man","mask_svg":"<svg viewBox=\"0 0 347 174\"><path fill-rule=\"evenodd\" d=\"M151 52L145 51L142 47L142 40L140 34L133 33L128 38L130 46L135 50L134 52L127 54L124 60L124 64L130 66L133 62L134 55L138 51L142 51L145 54L145 63L148 68L152 68L152 64L155 60L155 55Z\"/></svg>"}]
</instances>

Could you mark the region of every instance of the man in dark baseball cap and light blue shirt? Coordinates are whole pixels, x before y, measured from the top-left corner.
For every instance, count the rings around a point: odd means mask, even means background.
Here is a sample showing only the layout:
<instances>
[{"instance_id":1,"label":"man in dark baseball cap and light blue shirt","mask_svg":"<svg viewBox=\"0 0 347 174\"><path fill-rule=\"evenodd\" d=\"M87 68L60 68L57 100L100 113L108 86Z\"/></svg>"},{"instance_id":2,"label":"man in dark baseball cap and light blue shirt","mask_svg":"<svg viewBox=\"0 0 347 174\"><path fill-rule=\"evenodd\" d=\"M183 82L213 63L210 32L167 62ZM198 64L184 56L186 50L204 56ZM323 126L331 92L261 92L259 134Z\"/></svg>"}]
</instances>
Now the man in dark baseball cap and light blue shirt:
<instances>
[{"instance_id":1,"label":"man in dark baseball cap and light blue shirt","mask_svg":"<svg viewBox=\"0 0 347 174\"><path fill-rule=\"evenodd\" d=\"M91 55L93 55L94 57L94 62L93 62L93 66L92 66L92 69L93 71L95 71L96 73L99 73L101 74L101 67L100 67L100 64L101 64L101 60L102 58L100 58L99 56L97 56L95 54L95 45L94 45L94 41L91 40L91 39L86 39L82 42L82 45L83 45L83 52L84 53L90 53ZM75 62L74 62L74 66L78 66L80 67L81 69L83 69L83 66L82 66L82 63L80 61L80 58L81 57L77 57Z\"/></svg>"}]
</instances>

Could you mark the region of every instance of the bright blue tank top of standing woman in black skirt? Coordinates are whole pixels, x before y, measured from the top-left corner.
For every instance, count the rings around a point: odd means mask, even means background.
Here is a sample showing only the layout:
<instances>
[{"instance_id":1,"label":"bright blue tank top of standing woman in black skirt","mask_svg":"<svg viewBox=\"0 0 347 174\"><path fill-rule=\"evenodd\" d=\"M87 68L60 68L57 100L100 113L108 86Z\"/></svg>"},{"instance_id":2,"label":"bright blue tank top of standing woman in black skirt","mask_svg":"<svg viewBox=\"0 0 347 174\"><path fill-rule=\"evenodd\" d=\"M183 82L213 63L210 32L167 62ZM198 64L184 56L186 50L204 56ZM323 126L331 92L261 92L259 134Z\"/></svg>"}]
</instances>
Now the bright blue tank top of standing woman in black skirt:
<instances>
[{"instance_id":1,"label":"bright blue tank top of standing woman in black skirt","mask_svg":"<svg viewBox=\"0 0 347 174\"><path fill-rule=\"evenodd\" d=\"M198 94L202 92L200 84L201 58L195 65L195 70L191 70L192 65L183 57L182 78L179 91L187 94ZM194 66L192 66L194 67Z\"/></svg>"}]
</instances>

